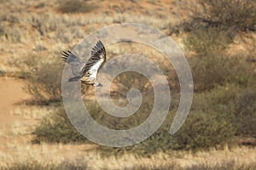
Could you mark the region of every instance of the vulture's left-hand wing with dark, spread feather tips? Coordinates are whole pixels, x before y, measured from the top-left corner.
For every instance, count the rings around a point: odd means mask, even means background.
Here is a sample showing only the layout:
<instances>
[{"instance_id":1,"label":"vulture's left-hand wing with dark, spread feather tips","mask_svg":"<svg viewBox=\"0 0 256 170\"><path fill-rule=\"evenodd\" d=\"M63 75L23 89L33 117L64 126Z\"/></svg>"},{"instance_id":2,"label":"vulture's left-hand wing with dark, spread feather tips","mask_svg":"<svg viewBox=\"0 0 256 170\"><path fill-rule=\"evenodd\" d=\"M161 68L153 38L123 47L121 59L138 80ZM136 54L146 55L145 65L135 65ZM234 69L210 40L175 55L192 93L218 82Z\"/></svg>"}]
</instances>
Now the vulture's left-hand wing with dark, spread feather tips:
<instances>
[{"instance_id":1,"label":"vulture's left-hand wing with dark, spread feather tips","mask_svg":"<svg viewBox=\"0 0 256 170\"><path fill-rule=\"evenodd\" d=\"M75 54L71 51L63 51L62 59L67 62L67 64L71 65L73 76L82 77L85 63L81 59L79 59Z\"/></svg>"}]
</instances>

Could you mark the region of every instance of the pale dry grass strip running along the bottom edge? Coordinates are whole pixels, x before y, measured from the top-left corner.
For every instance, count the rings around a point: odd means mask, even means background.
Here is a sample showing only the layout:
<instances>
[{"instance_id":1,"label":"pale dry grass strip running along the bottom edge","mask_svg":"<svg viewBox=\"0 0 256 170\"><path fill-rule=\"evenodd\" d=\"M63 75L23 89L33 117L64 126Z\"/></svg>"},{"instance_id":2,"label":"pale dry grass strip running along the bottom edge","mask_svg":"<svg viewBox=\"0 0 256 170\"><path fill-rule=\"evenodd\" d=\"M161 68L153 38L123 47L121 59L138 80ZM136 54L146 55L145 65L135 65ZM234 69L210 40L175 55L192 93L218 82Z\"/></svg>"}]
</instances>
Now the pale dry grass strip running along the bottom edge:
<instances>
[{"instance_id":1,"label":"pale dry grass strip running along the bottom edge","mask_svg":"<svg viewBox=\"0 0 256 170\"><path fill-rule=\"evenodd\" d=\"M90 145L71 144L20 144L20 142L10 142L4 150L0 151L0 167L7 166L14 162L38 161L45 164L55 165L63 161L87 162L91 169L133 169L136 167L216 167L234 161L234 165L250 165L256 161L255 150L247 148L236 148L234 150L212 150L210 152L180 152L177 156L170 156L158 153L149 158L136 155L109 156L102 157ZM11 150L11 151L10 151ZM246 157L246 159L245 159ZM166 168L165 168L166 169Z\"/></svg>"}]
</instances>

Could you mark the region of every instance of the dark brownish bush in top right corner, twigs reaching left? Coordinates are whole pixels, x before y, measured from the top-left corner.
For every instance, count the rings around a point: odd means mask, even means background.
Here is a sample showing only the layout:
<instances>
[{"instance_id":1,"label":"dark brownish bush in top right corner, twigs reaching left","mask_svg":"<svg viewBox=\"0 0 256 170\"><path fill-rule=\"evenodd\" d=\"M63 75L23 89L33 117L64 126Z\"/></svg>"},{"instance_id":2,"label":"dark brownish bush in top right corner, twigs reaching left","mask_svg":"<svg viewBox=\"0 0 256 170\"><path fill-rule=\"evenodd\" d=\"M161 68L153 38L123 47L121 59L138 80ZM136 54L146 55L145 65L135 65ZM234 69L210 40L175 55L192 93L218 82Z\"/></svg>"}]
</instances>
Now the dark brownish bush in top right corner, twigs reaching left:
<instances>
[{"instance_id":1,"label":"dark brownish bush in top right corner, twigs reaching left","mask_svg":"<svg viewBox=\"0 0 256 170\"><path fill-rule=\"evenodd\" d=\"M197 0L187 3L189 20L170 26L170 33L218 28L230 35L238 31L256 31L256 3L252 0Z\"/></svg>"}]
</instances>

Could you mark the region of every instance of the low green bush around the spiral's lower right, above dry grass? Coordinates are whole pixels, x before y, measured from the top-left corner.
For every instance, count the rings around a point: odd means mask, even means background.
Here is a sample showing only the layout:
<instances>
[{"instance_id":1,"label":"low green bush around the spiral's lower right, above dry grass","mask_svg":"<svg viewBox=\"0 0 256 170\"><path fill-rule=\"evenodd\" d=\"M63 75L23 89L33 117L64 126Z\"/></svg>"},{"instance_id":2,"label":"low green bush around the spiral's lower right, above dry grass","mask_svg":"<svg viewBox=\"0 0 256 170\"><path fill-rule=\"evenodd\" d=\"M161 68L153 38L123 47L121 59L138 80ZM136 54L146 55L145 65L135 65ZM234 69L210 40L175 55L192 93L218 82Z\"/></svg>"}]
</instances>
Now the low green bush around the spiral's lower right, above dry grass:
<instances>
[{"instance_id":1,"label":"low green bush around the spiral's lower right, above dry grass","mask_svg":"<svg viewBox=\"0 0 256 170\"><path fill-rule=\"evenodd\" d=\"M142 143L125 148L99 146L97 150L102 156L119 156L125 153L151 156L157 152L172 154L172 150L201 150L224 146L233 139L236 131L225 114L212 111L192 111L183 127L173 136L169 133L171 122L172 118L169 116L162 127Z\"/></svg>"}]
</instances>

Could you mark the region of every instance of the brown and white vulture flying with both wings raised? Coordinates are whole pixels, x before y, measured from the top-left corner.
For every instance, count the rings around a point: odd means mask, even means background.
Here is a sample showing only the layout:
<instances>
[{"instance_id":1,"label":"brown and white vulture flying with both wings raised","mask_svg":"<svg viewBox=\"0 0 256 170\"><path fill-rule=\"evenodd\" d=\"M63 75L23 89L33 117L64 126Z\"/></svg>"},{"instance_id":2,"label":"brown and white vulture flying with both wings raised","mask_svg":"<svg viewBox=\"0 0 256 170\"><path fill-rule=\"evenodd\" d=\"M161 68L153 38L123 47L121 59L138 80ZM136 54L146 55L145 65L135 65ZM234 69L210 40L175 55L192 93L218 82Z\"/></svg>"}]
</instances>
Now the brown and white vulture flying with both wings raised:
<instances>
[{"instance_id":1,"label":"brown and white vulture flying with both wings raised","mask_svg":"<svg viewBox=\"0 0 256 170\"><path fill-rule=\"evenodd\" d=\"M74 77L70 78L68 82L80 80L84 84L101 86L101 83L96 82L98 71L106 62L106 50L101 41L96 42L91 50L90 59L86 63L70 51L63 51L62 59L72 67Z\"/></svg>"}]
</instances>

